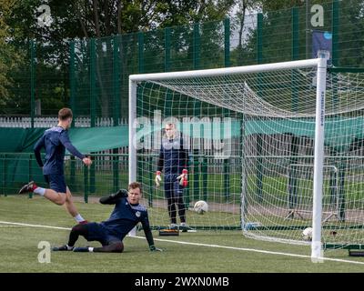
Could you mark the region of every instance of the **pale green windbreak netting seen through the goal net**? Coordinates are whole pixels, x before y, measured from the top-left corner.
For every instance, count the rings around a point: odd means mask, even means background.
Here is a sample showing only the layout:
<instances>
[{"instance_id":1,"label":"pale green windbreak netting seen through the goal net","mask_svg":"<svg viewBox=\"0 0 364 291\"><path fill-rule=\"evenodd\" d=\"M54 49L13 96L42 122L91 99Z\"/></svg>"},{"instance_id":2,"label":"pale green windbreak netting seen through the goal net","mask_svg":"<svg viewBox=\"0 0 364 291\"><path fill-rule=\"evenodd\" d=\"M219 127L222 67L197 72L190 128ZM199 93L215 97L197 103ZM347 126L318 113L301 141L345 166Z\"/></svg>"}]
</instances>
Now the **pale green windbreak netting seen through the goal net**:
<instances>
[{"instance_id":1,"label":"pale green windbreak netting seen through the goal net","mask_svg":"<svg viewBox=\"0 0 364 291\"><path fill-rule=\"evenodd\" d=\"M204 124L202 119L198 123L187 122L177 125L178 129L187 137L220 139L234 138L241 135L241 126L245 135L277 135L290 134L306 136L314 139L315 119L313 118L271 118L269 120L249 119L244 124L242 121L227 119L218 124ZM216 130L218 128L218 130ZM202 130L203 129L203 130ZM152 135L160 130L160 126L145 125L137 131L136 138ZM221 132L224 132L221 134ZM339 137L338 137L339 136ZM326 118L325 121L325 146L330 146L337 152L347 152L355 140L364 138L364 117L351 118Z\"/></svg>"}]
</instances>

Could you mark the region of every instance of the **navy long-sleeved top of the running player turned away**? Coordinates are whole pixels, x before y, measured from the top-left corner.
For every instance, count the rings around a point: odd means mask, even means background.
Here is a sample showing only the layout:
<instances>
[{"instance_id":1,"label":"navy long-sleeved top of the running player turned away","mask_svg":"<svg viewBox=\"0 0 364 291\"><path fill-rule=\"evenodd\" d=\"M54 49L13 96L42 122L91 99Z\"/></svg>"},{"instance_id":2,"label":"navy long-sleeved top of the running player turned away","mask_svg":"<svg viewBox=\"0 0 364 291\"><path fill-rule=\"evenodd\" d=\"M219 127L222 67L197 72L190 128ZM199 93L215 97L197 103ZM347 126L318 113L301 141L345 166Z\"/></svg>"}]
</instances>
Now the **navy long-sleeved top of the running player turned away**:
<instances>
[{"instance_id":1,"label":"navy long-sleeved top of the running player turned away","mask_svg":"<svg viewBox=\"0 0 364 291\"><path fill-rule=\"evenodd\" d=\"M40 151L45 148L45 163L43 164ZM64 175L64 158L66 149L74 156L83 159L85 156L71 144L68 132L62 126L54 126L45 130L34 146L35 158L39 166L43 166L44 175Z\"/></svg>"}]
</instances>

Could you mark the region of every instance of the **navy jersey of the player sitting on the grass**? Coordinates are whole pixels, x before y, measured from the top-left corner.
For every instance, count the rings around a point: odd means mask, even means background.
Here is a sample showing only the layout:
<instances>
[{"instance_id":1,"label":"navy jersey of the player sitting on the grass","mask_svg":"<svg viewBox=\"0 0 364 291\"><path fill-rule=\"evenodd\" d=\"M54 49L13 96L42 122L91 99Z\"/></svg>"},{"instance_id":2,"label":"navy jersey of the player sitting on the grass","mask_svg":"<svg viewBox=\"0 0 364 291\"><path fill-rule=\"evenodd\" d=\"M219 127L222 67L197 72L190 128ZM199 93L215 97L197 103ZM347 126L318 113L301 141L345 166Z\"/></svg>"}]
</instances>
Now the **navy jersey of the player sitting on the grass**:
<instances>
[{"instance_id":1,"label":"navy jersey of the player sitting on the grass","mask_svg":"<svg viewBox=\"0 0 364 291\"><path fill-rule=\"evenodd\" d=\"M141 223L144 231L150 230L147 208L140 204L131 205L126 197L116 201L111 216L101 223L110 234L120 237L122 240L138 223Z\"/></svg>"}]
</instances>

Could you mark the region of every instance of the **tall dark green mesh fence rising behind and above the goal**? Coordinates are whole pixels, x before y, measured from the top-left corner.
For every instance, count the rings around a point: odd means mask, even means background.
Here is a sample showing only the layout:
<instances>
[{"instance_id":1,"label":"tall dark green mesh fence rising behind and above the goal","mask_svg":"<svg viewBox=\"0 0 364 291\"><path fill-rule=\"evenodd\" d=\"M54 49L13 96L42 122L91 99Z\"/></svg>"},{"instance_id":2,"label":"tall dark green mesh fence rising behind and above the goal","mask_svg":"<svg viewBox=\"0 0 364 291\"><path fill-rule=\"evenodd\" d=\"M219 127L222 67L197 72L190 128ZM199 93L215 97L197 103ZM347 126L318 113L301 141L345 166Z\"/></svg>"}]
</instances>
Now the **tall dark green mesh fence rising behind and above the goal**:
<instances>
[{"instance_id":1,"label":"tall dark green mesh fence rising behind and above the goal","mask_svg":"<svg viewBox=\"0 0 364 291\"><path fill-rule=\"evenodd\" d=\"M305 7L246 15L238 19L174 26L149 32L73 40L59 45L18 45L0 115L56 115L71 106L76 116L127 117L128 75L224 66L254 65L312 57L313 30L332 33L334 65L364 63L361 1L324 7L324 25L312 27ZM41 108L41 111L39 111Z\"/></svg>"}]
</instances>

